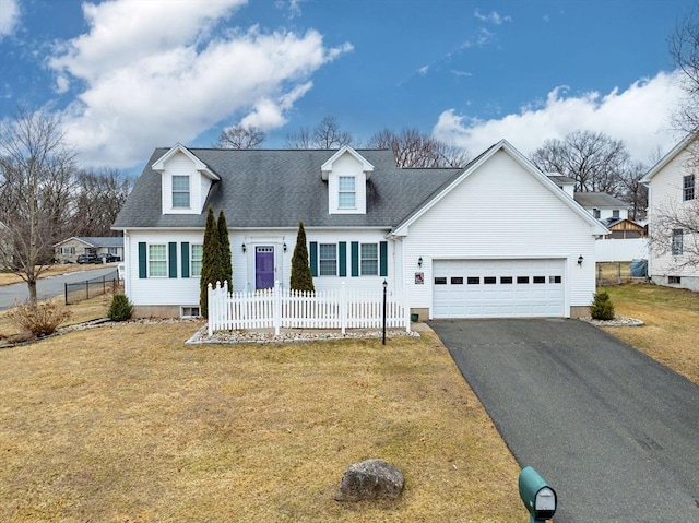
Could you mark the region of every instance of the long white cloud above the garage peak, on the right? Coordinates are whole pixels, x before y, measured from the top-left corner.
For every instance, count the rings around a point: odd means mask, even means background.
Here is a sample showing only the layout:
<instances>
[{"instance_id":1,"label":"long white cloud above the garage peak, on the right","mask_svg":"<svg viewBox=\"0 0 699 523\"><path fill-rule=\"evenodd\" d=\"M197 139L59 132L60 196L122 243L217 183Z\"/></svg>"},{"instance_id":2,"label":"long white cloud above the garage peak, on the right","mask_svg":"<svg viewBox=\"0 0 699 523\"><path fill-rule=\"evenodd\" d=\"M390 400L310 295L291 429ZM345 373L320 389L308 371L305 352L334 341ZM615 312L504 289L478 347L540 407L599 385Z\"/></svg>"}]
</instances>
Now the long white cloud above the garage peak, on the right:
<instances>
[{"instance_id":1,"label":"long white cloud above the garage peak, on the right","mask_svg":"<svg viewBox=\"0 0 699 523\"><path fill-rule=\"evenodd\" d=\"M594 92L568 96L567 87L556 87L546 100L500 119L479 120L448 109L439 116L433 134L473 155L502 139L529 155L546 140L591 130L624 140L632 158L648 162L657 147L666 152L680 138L670 130L671 112L682 96L676 80L661 72L604 96Z\"/></svg>"}]
</instances>

